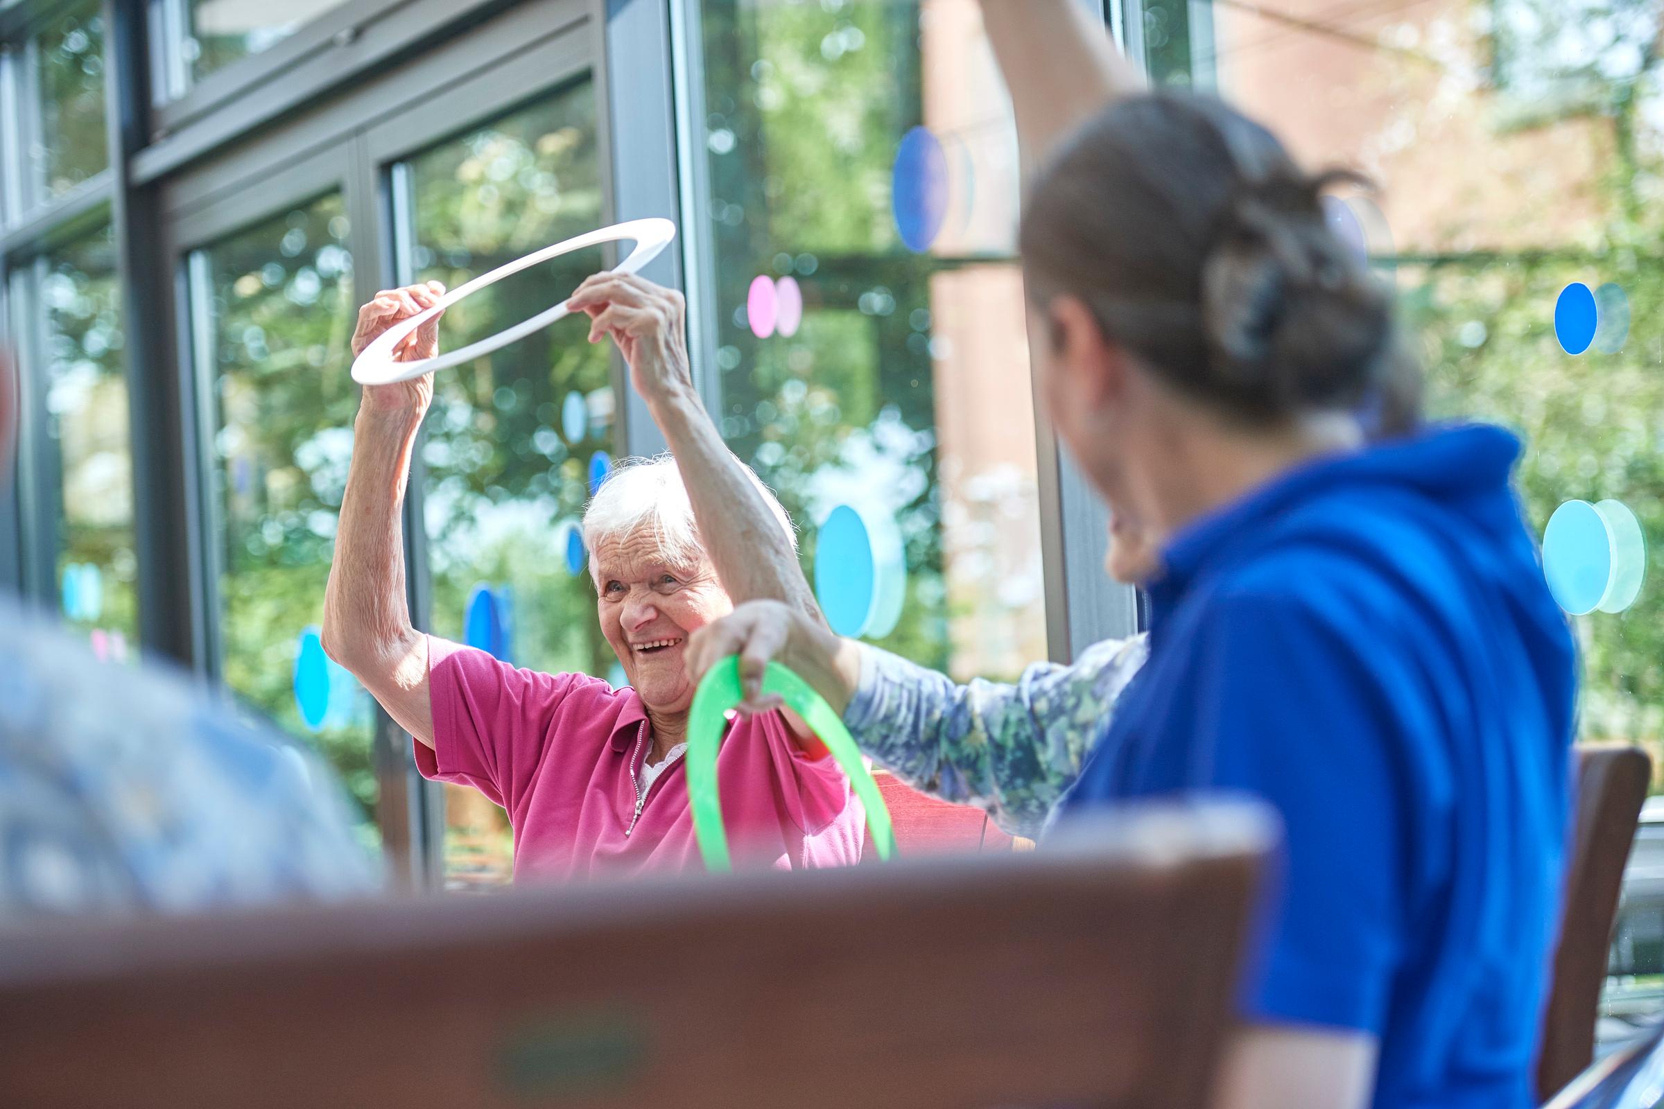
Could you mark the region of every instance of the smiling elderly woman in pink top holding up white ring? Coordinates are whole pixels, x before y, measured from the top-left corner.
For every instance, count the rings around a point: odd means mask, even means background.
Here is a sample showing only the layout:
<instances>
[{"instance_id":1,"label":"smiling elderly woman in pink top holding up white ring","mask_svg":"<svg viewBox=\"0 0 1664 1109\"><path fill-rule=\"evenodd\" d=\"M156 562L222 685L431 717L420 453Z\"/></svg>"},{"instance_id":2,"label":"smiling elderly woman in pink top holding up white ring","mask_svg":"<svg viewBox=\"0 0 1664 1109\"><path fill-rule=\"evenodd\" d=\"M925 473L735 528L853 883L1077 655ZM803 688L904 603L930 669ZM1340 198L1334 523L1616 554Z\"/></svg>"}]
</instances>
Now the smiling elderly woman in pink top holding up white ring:
<instances>
[{"instance_id":1,"label":"smiling elderly woman in pink top holding up white ring","mask_svg":"<svg viewBox=\"0 0 1664 1109\"><path fill-rule=\"evenodd\" d=\"M438 283L379 293L359 309L353 349L441 293ZM792 525L694 392L682 298L597 274L572 308L591 316L591 343L619 344L674 454L626 464L584 515L596 615L629 687L516 670L411 625L399 520L431 377L364 389L324 599L324 650L414 737L421 773L471 785L508 810L518 881L697 868L681 765L694 697L687 637L754 599L819 619L795 567L784 574L755 557L755 527L767 520L790 535ZM436 351L438 321L398 357ZM860 801L795 717L735 720L717 780L735 860L794 870L860 858Z\"/></svg>"}]
</instances>

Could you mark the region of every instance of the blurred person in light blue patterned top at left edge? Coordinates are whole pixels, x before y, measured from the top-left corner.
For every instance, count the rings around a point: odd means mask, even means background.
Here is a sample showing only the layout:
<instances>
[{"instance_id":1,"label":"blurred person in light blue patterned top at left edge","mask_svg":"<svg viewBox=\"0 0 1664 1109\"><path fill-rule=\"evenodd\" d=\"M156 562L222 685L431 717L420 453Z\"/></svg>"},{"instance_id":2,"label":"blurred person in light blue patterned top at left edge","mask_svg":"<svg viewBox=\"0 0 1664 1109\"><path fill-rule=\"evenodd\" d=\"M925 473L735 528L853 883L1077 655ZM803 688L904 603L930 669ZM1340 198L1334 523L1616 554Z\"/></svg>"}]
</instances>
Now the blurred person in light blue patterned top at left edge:
<instances>
[{"instance_id":1,"label":"blurred person in light blue patterned top at left edge","mask_svg":"<svg viewBox=\"0 0 1664 1109\"><path fill-rule=\"evenodd\" d=\"M0 351L0 495L18 382ZM0 923L379 888L329 770L186 675L98 662L0 597Z\"/></svg>"}]
</instances>

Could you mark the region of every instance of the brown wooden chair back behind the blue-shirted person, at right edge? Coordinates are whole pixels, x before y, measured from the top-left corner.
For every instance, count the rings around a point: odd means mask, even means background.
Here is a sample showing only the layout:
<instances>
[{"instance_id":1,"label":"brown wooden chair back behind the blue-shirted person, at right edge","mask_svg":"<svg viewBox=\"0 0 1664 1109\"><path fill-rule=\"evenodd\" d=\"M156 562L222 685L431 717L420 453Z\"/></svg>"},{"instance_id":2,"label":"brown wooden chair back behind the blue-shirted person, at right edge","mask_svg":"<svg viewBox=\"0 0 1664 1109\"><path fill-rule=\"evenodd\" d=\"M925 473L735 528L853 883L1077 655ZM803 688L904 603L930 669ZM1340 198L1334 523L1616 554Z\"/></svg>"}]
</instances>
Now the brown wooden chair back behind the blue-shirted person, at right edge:
<instances>
[{"instance_id":1,"label":"brown wooden chair back behind the blue-shirted person, at right edge","mask_svg":"<svg viewBox=\"0 0 1664 1109\"><path fill-rule=\"evenodd\" d=\"M1554 976L1543 1013L1538 1097L1546 1101L1594 1059L1594 1023L1624 865L1652 778L1637 747L1577 747L1576 800Z\"/></svg>"}]
</instances>

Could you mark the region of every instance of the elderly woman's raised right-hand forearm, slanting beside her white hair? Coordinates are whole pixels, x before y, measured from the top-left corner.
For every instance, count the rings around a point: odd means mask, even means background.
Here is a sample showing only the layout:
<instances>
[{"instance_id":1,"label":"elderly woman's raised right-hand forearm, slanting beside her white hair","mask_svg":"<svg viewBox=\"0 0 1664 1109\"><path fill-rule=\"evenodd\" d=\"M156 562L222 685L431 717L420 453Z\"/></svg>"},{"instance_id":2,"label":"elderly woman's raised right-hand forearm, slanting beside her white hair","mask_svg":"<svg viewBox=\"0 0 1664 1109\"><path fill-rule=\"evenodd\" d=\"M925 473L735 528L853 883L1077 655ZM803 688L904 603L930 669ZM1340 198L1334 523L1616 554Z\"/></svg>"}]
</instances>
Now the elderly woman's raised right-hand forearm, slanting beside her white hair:
<instances>
[{"instance_id":1,"label":"elderly woman's raised right-hand forearm, slanting beside her white hair","mask_svg":"<svg viewBox=\"0 0 1664 1109\"><path fill-rule=\"evenodd\" d=\"M780 600L820 620L785 529L722 442L699 397L691 389L674 389L649 404L682 472L699 537L734 604Z\"/></svg>"}]
</instances>

